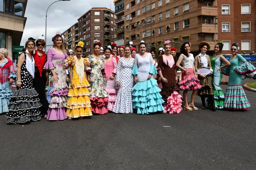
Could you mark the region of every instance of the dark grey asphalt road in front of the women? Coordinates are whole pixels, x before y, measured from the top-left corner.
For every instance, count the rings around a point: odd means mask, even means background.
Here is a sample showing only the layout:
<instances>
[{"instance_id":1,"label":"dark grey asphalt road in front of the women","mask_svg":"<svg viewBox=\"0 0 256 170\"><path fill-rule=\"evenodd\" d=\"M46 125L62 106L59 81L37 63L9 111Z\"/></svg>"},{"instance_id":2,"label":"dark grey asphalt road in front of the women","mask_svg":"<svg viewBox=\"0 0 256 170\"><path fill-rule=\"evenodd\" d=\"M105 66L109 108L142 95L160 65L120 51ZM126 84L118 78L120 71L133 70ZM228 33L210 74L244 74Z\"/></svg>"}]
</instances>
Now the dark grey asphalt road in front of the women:
<instances>
[{"instance_id":1,"label":"dark grey asphalt road in front of the women","mask_svg":"<svg viewBox=\"0 0 256 170\"><path fill-rule=\"evenodd\" d=\"M196 97L200 109L181 114L25 125L8 125L0 115L0 170L256 170L256 98L246 95L246 111L202 110Z\"/></svg>"}]
</instances>

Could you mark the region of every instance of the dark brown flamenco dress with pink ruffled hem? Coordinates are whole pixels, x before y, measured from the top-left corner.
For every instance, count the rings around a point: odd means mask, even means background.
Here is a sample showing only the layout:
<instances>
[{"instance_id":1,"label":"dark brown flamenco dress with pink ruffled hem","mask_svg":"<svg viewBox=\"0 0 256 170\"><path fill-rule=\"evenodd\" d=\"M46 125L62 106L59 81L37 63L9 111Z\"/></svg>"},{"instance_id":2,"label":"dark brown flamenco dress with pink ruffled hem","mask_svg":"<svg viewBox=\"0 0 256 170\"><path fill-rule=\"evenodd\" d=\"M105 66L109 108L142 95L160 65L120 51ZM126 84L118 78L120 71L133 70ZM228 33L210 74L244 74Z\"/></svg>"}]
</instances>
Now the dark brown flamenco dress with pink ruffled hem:
<instances>
[{"instance_id":1,"label":"dark brown flamenco dress with pink ruffled hem","mask_svg":"<svg viewBox=\"0 0 256 170\"><path fill-rule=\"evenodd\" d=\"M162 99L164 100L164 113L180 113L182 110L182 96L179 94L179 88L176 84L175 79L175 62L172 57L171 60L168 60L165 55L160 56L158 62L158 69L161 70L164 78L168 80L167 83L162 81Z\"/></svg>"}]
</instances>

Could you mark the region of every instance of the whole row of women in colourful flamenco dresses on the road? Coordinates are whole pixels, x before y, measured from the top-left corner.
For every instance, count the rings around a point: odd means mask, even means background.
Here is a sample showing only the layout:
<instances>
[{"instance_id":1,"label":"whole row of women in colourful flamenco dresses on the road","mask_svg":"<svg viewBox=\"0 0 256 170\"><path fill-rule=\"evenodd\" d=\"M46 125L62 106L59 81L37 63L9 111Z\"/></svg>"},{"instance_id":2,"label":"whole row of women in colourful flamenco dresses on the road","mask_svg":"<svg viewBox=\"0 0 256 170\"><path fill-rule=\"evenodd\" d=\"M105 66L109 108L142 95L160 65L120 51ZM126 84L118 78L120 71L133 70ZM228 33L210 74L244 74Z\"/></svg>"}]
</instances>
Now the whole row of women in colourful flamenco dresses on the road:
<instances>
[{"instance_id":1,"label":"whole row of women in colourful flamenco dresses on the road","mask_svg":"<svg viewBox=\"0 0 256 170\"><path fill-rule=\"evenodd\" d=\"M237 54L237 43L232 44L228 61L221 55L222 42L215 45L212 59L206 54L210 49L208 43L198 45L200 53L194 58L190 42L184 42L177 59L176 49L167 40L156 59L156 50L147 52L143 41L138 54L134 47L117 47L113 43L101 55L101 42L94 40L94 54L83 58L83 42L75 47L75 55L69 51L68 56L59 32L52 40L53 48L47 55L43 52L44 37L38 37L36 42L32 38L27 40L17 62L17 76L7 50L0 49L0 113L6 113L7 123L37 121L41 116L47 120L84 118L108 112L180 113L183 108L198 110L194 104L196 95L201 97L202 109L207 108L205 98L212 110L251 107L241 87L241 73L256 69ZM180 81L177 69L181 70ZM229 75L225 95L220 88L222 72ZM17 89L12 94L9 84L16 78ZM193 91L190 103L189 90Z\"/></svg>"}]
</instances>

